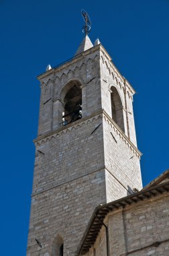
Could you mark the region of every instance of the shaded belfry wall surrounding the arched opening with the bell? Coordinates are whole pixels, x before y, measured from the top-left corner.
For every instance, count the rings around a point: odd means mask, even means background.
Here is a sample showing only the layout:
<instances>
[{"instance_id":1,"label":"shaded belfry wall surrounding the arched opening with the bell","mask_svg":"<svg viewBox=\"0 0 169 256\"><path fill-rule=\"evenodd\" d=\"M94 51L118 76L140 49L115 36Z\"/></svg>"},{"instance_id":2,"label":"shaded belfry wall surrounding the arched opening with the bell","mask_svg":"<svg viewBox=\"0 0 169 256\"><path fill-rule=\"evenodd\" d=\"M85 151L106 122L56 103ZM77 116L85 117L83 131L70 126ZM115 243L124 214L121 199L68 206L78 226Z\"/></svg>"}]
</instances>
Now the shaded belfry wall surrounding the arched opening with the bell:
<instances>
[{"instance_id":1,"label":"shaded belfry wall surrounding the arched opening with the bell","mask_svg":"<svg viewBox=\"0 0 169 256\"><path fill-rule=\"evenodd\" d=\"M41 85L38 135L60 128L67 84L78 81L82 88L82 116L101 109L100 61L98 48L38 77Z\"/></svg>"}]
</instances>

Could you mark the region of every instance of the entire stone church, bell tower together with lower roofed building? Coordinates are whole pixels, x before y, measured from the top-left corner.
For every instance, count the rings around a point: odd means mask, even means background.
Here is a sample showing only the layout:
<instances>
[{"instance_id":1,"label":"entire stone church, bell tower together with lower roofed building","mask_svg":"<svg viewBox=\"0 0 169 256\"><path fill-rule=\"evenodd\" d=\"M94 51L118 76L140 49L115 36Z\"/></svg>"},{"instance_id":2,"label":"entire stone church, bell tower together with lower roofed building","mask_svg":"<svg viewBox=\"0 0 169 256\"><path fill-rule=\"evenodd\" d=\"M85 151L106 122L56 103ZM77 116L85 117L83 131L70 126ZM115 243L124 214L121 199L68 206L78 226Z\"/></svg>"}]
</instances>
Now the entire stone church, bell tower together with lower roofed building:
<instances>
[{"instance_id":1,"label":"entire stone church, bell tower together with lower roofed building","mask_svg":"<svg viewBox=\"0 0 169 256\"><path fill-rule=\"evenodd\" d=\"M38 79L27 256L169 255L168 172L142 189L135 91L102 44L85 36L74 58ZM163 254L135 252L153 243Z\"/></svg>"}]
</instances>

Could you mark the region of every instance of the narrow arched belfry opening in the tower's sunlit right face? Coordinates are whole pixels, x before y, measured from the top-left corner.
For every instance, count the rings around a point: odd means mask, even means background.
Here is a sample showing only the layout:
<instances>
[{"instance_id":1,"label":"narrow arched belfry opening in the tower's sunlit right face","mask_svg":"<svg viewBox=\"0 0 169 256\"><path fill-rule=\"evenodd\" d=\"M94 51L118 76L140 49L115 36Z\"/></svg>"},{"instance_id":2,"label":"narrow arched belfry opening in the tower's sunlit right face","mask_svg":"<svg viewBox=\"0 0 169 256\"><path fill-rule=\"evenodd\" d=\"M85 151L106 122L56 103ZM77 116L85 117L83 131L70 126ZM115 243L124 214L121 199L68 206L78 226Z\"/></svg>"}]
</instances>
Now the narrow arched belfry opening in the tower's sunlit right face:
<instances>
[{"instance_id":1,"label":"narrow arched belfry opening in the tower's sunlit right face","mask_svg":"<svg viewBox=\"0 0 169 256\"><path fill-rule=\"evenodd\" d=\"M111 87L111 115L112 119L119 125L122 131L125 132L124 119L123 119L123 104L117 89Z\"/></svg>"}]
</instances>

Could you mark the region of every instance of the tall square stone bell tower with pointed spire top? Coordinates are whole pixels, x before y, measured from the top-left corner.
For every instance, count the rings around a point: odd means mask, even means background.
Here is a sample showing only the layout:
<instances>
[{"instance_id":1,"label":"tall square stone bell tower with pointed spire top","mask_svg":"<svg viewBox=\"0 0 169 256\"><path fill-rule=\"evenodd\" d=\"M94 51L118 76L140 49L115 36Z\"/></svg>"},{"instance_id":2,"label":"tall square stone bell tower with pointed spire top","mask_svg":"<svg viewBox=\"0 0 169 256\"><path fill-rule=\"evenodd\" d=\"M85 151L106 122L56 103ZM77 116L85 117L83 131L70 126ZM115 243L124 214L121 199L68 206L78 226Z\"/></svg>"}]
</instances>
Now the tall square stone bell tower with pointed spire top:
<instances>
[{"instance_id":1,"label":"tall square stone bell tower with pointed spire top","mask_svg":"<svg viewBox=\"0 0 169 256\"><path fill-rule=\"evenodd\" d=\"M71 60L38 79L27 256L74 256L97 205L142 189L135 91L89 36Z\"/></svg>"}]
</instances>

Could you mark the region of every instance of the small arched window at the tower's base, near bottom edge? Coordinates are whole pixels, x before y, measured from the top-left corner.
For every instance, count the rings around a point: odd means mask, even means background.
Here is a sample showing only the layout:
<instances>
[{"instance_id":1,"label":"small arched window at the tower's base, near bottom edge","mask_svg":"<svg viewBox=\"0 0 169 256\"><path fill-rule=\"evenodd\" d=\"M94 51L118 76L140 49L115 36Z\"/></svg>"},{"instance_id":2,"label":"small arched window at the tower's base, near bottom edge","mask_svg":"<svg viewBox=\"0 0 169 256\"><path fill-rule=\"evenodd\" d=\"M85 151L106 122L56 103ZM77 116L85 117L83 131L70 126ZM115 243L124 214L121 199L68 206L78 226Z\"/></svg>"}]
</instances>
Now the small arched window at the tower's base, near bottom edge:
<instances>
[{"instance_id":1,"label":"small arched window at the tower's base, near bottom edge","mask_svg":"<svg viewBox=\"0 0 169 256\"><path fill-rule=\"evenodd\" d=\"M51 256L63 256L64 240L60 234L54 238L52 243Z\"/></svg>"}]
</instances>

